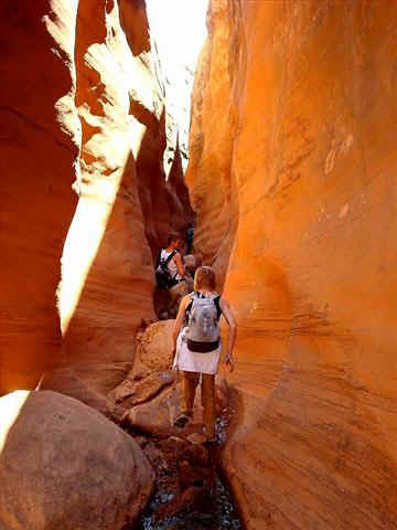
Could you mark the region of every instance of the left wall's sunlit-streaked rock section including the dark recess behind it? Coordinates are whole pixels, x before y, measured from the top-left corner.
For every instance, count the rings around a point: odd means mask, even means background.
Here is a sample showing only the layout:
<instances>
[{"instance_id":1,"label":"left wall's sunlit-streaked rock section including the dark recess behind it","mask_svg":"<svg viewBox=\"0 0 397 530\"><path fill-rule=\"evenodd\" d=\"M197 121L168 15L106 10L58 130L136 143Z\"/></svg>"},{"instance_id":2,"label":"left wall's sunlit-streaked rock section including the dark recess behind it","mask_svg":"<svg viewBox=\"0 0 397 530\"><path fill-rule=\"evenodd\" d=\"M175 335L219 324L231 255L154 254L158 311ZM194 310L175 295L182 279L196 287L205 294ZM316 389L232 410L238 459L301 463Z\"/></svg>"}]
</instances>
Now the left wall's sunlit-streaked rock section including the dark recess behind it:
<instances>
[{"instance_id":1,"label":"left wall's sunlit-streaked rock section including the dark recess behind it","mask_svg":"<svg viewBox=\"0 0 397 530\"><path fill-rule=\"evenodd\" d=\"M67 362L107 393L130 368L142 319L154 318L153 257L190 218L165 184L164 86L144 2L81 0L75 61L79 202L63 256L61 312Z\"/></svg>"}]
</instances>

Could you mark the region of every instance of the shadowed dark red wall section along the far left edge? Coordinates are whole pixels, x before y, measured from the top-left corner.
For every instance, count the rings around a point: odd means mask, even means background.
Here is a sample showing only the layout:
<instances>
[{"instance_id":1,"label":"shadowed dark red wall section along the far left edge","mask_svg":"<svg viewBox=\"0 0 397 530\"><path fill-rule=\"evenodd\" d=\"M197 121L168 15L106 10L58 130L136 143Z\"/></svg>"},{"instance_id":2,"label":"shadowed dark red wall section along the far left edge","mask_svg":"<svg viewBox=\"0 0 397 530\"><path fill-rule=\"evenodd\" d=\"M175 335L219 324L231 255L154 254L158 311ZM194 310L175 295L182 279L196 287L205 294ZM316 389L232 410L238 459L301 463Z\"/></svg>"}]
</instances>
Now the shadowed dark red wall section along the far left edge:
<instances>
[{"instance_id":1,"label":"shadowed dark red wall section along the far left edge","mask_svg":"<svg viewBox=\"0 0 397 530\"><path fill-rule=\"evenodd\" d=\"M0 394L34 388L61 357L55 290L79 144L76 10L74 0L0 6Z\"/></svg>"}]
</instances>

